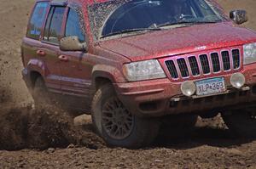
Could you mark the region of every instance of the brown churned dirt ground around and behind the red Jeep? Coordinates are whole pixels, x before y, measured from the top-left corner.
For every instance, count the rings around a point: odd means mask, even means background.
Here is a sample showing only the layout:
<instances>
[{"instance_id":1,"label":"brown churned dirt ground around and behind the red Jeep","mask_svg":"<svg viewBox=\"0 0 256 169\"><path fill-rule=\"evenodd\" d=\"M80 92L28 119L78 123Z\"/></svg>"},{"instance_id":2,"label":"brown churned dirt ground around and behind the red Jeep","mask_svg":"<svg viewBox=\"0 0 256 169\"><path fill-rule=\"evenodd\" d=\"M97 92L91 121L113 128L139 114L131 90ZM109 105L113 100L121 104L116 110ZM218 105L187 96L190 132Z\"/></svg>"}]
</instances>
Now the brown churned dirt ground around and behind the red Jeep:
<instances>
[{"instance_id":1,"label":"brown churned dirt ground around and behind the red Jeep","mask_svg":"<svg viewBox=\"0 0 256 169\"><path fill-rule=\"evenodd\" d=\"M0 0L0 168L256 168L256 140L230 138L220 116L199 119L179 139L160 136L146 149L111 149L90 118L74 127L62 110L32 109L22 82L20 42L33 0ZM256 30L255 0L219 0L228 12L247 9ZM14 151L15 150L15 151Z\"/></svg>"}]
</instances>

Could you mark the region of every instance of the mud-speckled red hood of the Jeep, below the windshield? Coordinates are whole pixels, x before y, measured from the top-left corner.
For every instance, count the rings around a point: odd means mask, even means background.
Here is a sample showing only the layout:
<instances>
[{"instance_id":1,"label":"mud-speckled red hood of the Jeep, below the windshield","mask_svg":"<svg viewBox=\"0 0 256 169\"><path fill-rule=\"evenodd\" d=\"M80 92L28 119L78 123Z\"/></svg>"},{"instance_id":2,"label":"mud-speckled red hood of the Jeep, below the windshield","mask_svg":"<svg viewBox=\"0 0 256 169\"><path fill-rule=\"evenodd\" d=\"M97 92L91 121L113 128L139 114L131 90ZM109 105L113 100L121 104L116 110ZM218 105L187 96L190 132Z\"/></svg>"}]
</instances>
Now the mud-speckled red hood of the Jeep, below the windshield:
<instances>
[{"instance_id":1,"label":"mud-speckled red hood of the Jeep, below the windshield","mask_svg":"<svg viewBox=\"0 0 256 169\"><path fill-rule=\"evenodd\" d=\"M256 42L254 31L232 25L230 22L222 22L121 37L100 42L99 45L131 61L138 61L236 46L253 41Z\"/></svg>"}]
</instances>

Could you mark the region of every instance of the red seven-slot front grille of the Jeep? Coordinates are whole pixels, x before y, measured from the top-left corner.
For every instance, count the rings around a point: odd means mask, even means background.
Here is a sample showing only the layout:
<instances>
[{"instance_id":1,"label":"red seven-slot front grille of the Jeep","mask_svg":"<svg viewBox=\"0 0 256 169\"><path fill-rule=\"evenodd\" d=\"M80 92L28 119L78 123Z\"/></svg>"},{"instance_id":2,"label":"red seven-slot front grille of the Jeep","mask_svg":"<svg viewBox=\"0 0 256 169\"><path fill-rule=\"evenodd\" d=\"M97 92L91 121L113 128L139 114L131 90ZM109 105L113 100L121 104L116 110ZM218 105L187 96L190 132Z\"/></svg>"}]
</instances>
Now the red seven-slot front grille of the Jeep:
<instances>
[{"instance_id":1,"label":"red seven-slot front grille of the Jeep","mask_svg":"<svg viewBox=\"0 0 256 169\"><path fill-rule=\"evenodd\" d=\"M208 75L223 71L237 70L241 67L239 49L224 49L209 54L189 55L166 60L166 67L173 79Z\"/></svg>"}]
</instances>

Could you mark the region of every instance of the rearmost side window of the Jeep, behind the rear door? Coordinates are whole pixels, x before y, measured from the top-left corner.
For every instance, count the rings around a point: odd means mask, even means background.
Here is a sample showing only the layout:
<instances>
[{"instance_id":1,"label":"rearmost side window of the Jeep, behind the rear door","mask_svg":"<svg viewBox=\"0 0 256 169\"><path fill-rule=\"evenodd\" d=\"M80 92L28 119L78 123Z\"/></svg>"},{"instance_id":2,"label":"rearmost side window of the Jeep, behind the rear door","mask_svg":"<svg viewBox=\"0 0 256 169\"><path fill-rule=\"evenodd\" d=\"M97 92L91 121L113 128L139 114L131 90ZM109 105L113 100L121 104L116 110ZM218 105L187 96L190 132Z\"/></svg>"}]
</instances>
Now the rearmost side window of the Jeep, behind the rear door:
<instances>
[{"instance_id":1,"label":"rearmost side window of the Jeep, behind the rear door","mask_svg":"<svg viewBox=\"0 0 256 169\"><path fill-rule=\"evenodd\" d=\"M37 3L29 21L26 37L39 40L41 29L47 13L47 2Z\"/></svg>"}]
</instances>

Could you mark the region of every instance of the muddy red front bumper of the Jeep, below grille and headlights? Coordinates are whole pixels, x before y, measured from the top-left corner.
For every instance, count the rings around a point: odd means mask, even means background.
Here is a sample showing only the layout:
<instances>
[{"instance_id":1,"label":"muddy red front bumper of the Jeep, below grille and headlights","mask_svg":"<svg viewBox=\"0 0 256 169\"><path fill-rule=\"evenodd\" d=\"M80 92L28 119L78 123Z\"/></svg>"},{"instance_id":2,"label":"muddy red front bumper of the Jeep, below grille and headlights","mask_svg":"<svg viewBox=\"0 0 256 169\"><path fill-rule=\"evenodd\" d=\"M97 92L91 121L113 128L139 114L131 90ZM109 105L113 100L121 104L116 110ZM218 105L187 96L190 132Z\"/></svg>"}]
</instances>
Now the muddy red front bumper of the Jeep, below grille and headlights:
<instances>
[{"instance_id":1,"label":"muddy red front bumper of the Jeep, below grille and headlights","mask_svg":"<svg viewBox=\"0 0 256 169\"><path fill-rule=\"evenodd\" d=\"M230 72L228 75L223 75L227 92L205 97L185 97L180 90L182 82L171 82L167 78L115 83L114 87L119 99L135 115L201 114L212 110L244 108L248 104L256 103L256 64L245 65L241 73L246 77L244 87L236 89L231 86Z\"/></svg>"}]
</instances>

